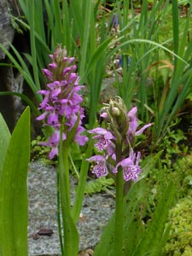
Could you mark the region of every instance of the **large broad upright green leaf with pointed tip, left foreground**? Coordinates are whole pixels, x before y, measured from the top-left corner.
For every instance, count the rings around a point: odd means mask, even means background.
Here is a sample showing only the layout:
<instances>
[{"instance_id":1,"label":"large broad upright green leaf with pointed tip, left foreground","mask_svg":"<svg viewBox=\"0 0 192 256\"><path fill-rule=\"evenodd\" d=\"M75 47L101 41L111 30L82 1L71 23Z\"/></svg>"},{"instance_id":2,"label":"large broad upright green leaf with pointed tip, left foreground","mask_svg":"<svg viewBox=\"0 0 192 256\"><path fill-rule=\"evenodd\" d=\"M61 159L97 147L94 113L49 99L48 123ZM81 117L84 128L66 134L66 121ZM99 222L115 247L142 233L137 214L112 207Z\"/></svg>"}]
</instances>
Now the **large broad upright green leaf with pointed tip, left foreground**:
<instances>
[{"instance_id":1,"label":"large broad upright green leaf with pointed tip, left foreground","mask_svg":"<svg viewBox=\"0 0 192 256\"><path fill-rule=\"evenodd\" d=\"M26 178L29 160L30 109L26 108L10 138L0 177L1 256L27 255Z\"/></svg>"}]
</instances>

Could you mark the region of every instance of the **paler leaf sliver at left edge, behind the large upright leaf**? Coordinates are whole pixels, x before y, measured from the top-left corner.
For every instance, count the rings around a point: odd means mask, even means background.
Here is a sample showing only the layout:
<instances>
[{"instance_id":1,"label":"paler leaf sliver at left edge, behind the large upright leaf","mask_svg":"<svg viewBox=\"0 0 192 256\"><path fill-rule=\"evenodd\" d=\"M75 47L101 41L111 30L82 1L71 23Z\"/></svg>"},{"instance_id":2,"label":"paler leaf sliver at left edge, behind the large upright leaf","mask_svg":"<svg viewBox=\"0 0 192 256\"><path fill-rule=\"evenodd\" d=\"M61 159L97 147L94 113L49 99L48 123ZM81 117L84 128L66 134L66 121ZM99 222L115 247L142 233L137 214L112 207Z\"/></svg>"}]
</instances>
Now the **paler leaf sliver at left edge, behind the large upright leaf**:
<instances>
[{"instance_id":1,"label":"paler leaf sliver at left edge, behind the large upright leaf","mask_svg":"<svg viewBox=\"0 0 192 256\"><path fill-rule=\"evenodd\" d=\"M3 162L9 147L10 132L2 114L0 113L0 177L3 170Z\"/></svg>"}]
</instances>

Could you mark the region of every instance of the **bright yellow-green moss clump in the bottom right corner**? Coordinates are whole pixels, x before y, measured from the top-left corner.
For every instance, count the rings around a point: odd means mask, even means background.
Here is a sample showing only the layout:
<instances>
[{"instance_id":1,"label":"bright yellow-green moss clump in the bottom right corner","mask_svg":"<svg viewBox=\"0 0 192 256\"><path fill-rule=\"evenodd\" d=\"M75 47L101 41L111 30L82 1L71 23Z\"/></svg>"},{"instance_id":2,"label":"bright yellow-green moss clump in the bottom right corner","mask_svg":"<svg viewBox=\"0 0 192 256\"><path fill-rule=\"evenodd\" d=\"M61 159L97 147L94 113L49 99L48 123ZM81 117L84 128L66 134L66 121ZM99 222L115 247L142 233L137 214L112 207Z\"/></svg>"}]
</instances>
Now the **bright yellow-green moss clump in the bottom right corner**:
<instances>
[{"instance_id":1,"label":"bright yellow-green moss clump in the bottom right corner","mask_svg":"<svg viewBox=\"0 0 192 256\"><path fill-rule=\"evenodd\" d=\"M171 233L164 250L165 256L192 255L192 198L187 196L169 213Z\"/></svg>"}]
</instances>

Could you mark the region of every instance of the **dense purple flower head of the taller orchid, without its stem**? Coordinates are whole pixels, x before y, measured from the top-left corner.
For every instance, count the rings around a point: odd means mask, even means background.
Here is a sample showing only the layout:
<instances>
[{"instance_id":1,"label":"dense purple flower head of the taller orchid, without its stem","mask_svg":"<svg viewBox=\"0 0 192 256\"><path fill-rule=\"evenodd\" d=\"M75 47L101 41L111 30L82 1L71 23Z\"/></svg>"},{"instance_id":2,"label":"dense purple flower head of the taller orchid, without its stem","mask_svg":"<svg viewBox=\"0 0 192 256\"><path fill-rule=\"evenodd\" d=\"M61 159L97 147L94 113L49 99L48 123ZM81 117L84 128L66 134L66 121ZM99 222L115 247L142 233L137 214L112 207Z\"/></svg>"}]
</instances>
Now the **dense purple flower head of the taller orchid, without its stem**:
<instances>
[{"instance_id":1,"label":"dense purple flower head of the taller orchid, without its stem","mask_svg":"<svg viewBox=\"0 0 192 256\"><path fill-rule=\"evenodd\" d=\"M79 76L75 73L77 67L73 64L74 57L67 57L67 50L62 49L59 45L54 55L49 55L51 63L49 69L43 69L45 77L49 80L46 90L39 90L38 93L44 96L38 109L43 110L38 120L44 120L44 125L53 127L54 133L48 138L48 143L42 143L51 149L49 158L53 158L58 154L59 140L57 137L61 125L65 131L63 141L67 140L67 136L73 129L79 116L79 124L76 134L73 135L73 141L84 145L88 138L81 133L84 132L82 127L82 119L84 118L84 108L80 104L83 98L80 90L84 87L79 85ZM75 126L76 127L76 126Z\"/></svg>"}]
</instances>

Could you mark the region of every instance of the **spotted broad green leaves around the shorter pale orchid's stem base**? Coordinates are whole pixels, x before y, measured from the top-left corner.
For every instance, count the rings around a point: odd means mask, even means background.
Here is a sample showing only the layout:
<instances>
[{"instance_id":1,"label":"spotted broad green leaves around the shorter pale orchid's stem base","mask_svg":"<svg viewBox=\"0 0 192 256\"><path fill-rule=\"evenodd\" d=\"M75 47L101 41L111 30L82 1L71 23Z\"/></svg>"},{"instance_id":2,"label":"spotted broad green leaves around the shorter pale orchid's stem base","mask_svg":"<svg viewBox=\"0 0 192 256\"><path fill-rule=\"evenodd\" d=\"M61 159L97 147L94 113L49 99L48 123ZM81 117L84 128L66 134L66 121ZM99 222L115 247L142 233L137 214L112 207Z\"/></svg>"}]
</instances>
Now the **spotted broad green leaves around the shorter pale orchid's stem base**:
<instances>
[{"instance_id":1,"label":"spotted broad green leaves around the shorter pale orchid's stem base","mask_svg":"<svg viewBox=\"0 0 192 256\"><path fill-rule=\"evenodd\" d=\"M174 195L173 183L167 187L154 212L152 222L145 231L142 220L139 218L139 205L143 198L145 180L132 185L130 192L125 196L124 212L124 255L143 256L160 255L165 245L168 231L165 232L165 224ZM96 246L94 256L115 256L114 247L114 214L109 220L102 239Z\"/></svg>"}]
</instances>

